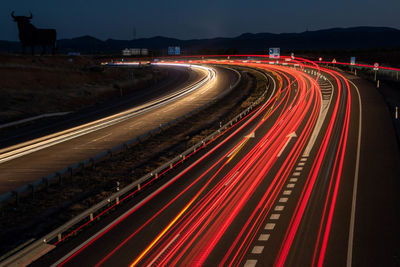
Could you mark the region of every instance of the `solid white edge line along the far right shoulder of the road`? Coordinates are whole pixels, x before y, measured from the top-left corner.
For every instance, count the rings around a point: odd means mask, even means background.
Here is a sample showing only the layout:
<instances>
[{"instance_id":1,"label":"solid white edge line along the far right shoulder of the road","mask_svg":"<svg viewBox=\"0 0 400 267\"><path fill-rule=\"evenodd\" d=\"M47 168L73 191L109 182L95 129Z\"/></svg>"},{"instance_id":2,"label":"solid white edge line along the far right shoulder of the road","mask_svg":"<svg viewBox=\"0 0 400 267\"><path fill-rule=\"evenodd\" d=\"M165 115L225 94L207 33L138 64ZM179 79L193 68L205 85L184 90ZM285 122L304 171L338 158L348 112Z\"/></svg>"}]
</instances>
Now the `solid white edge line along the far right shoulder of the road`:
<instances>
[{"instance_id":1,"label":"solid white edge line along the far right shoulder of the road","mask_svg":"<svg viewBox=\"0 0 400 267\"><path fill-rule=\"evenodd\" d=\"M360 167L360 147L361 147L361 129L362 129L362 104L361 104L361 96L358 87L350 80L348 80L357 91L358 95L358 103L359 103L359 112L360 119L358 122L358 142L357 142L357 158L356 158L356 170L354 173L354 185L353 185L353 200L351 203L351 217L350 217L350 229L349 229L349 242L347 245L347 262L346 266L351 267L353 261L353 241L354 241L354 223L356 216L356 202L357 202L357 185L358 185L358 174Z\"/></svg>"}]
</instances>

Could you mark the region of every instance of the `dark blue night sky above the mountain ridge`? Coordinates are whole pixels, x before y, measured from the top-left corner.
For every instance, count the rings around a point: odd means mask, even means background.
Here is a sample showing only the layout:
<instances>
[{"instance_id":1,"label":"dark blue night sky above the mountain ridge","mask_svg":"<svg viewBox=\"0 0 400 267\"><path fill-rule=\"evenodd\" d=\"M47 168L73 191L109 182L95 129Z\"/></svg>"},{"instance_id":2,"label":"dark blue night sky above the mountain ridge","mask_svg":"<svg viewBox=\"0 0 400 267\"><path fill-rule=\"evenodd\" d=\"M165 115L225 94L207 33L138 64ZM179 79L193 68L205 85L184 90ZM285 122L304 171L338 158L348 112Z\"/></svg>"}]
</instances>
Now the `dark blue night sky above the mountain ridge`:
<instances>
[{"instance_id":1,"label":"dark blue night sky above the mountain ridge","mask_svg":"<svg viewBox=\"0 0 400 267\"><path fill-rule=\"evenodd\" d=\"M10 17L29 15L58 38L234 37L244 32L303 32L333 27L400 29L400 0L1 0L0 40L18 40Z\"/></svg>"}]
</instances>

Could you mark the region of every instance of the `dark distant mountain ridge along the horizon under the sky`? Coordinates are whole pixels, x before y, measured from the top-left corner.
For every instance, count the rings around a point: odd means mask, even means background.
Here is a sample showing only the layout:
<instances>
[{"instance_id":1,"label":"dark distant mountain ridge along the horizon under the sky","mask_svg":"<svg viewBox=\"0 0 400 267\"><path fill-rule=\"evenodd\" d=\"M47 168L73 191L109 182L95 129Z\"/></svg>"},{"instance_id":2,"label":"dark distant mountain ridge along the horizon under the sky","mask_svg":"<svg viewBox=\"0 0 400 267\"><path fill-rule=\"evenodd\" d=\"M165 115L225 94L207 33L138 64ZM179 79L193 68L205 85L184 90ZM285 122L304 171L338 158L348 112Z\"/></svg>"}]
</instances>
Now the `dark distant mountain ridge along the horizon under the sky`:
<instances>
[{"instance_id":1,"label":"dark distant mountain ridge along the horizon under the sky","mask_svg":"<svg viewBox=\"0 0 400 267\"><path fill-rule=\"evenodd\" d=\"M386 27L333 28L302 33L244 33L233 38L179 40L156 36L136 40L102 41L91 36L61 39L58 52L69 51L83 54L120 53L124 48L148 48L155 54L166 54L168 46L181 46L184 53L235 51L251 53L280 47L287 51L348 50L374 48L400 48L400 30ZM18 42L0 41L1 52L17 52Z\"/></svg>"}]
</instances>

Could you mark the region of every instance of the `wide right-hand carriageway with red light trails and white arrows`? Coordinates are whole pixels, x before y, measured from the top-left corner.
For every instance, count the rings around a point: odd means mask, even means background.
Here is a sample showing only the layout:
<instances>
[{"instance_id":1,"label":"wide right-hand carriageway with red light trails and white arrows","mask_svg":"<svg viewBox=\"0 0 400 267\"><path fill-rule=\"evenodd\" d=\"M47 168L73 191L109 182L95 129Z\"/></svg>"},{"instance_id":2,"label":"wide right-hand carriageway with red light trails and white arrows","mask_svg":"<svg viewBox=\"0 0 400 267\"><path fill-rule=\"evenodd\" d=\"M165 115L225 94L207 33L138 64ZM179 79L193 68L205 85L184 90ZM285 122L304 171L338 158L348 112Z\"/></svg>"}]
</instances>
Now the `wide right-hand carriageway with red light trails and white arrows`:
<instances>
[{"instance_id":1,"label":"wide right-hand carriageway with red light trails and white arrows","mask_svg":"<svg viewBox=\"0 0 400 267\"><path fill-rule=\"evenodd\" d=\"M301 59L208 63L265 72L267 98L33 265L396 264L400 159L375 89Z\"/></svg>"}]
</instances>

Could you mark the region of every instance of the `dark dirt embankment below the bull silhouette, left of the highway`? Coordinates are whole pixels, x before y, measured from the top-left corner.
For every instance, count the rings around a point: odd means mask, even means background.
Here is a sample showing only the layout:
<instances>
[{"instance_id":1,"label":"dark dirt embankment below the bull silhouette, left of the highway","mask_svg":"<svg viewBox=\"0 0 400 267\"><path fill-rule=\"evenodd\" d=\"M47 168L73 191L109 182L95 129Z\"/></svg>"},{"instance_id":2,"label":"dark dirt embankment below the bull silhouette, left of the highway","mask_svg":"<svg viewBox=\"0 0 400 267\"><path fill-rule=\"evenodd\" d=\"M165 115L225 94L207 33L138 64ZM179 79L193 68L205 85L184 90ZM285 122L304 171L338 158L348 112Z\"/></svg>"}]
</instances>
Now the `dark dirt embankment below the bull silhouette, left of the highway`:
<instances>
[{"instance_id":1,"label":"dark dirt embankment below the bull silhouette, left of the highway","mask_svg":"<svg viewBox=\"0 0 400 267\"><path fill-rule=\"evenodd\" d=\"M76 111L166 77L152 68L113 69L89 56L0 56L0 124Z\"/></svg>"}]
</instances>

